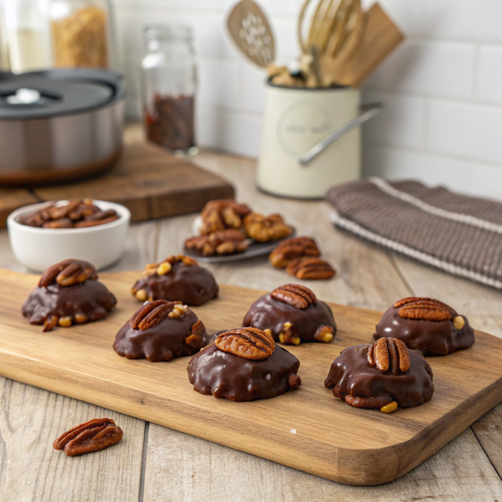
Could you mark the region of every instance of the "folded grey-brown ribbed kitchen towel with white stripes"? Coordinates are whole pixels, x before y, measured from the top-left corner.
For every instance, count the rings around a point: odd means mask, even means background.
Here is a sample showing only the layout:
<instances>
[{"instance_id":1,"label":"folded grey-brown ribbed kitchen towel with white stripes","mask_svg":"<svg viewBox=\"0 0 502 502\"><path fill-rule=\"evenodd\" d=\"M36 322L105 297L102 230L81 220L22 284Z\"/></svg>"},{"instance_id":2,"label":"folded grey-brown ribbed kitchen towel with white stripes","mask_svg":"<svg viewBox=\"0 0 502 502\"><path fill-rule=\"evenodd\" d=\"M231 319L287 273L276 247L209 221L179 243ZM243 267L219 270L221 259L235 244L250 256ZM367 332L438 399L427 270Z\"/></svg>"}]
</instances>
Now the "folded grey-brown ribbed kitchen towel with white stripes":
<instances>
[{"instance_id":1,"label":"folded grey-brown ribbed kitchen towel with white stripes","mask_svg":"<svg viewBox=\"0 0 502 502\"><path fill-rule=\"evenodd\" d=\"M502 204L369 178L331 188L334 225L451 274L502 289Z\"/></svg>"}]
</instances>

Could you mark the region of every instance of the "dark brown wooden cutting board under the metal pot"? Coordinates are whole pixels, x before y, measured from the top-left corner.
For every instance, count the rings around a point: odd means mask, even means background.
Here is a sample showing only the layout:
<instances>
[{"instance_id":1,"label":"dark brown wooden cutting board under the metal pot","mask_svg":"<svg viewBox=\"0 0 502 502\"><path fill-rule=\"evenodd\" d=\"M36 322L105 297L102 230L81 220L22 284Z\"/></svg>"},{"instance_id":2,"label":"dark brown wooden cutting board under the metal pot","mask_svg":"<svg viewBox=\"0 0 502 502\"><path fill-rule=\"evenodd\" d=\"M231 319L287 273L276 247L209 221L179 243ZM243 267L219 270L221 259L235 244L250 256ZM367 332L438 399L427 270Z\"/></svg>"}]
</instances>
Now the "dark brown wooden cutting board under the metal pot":
<instances>
[{"instance_id":1,"label":"dark brown wooden cutting board under the metal pot","mask_svg":"<svg viewBox=\"0 0 502 502\"><path fill-rule=\"evenodd\" d=\"M87 180L26 189L0 189L0 228L11 211L27 204L92 198L126 206L132 221L200 211L208 200L233 199L232 185L216 174L152 144L126 145L116 164Z\"/></svg>"}]
</instances>

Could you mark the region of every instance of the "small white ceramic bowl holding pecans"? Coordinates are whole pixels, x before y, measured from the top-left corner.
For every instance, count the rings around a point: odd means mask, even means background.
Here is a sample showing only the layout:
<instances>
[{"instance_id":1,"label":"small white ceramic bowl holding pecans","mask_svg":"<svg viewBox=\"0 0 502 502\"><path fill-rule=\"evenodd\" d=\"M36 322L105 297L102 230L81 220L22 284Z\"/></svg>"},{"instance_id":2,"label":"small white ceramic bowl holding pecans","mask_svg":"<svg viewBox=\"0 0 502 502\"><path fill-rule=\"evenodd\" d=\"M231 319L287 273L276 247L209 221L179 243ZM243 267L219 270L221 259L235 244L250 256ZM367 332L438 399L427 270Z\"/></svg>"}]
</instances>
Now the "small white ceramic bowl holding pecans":
<instances>
[{"instance_id":1,"label":"small white ceramic bowl holding pecans","mask_svg":"<svg viewBox=\"0 0 502 502\"><path fill-rule=\"evenodd\" d=\"M24 206L7 218L9 241L17 260L35 272L75 258L92 263L97 270L116 262L123 253L131 222L127 207L104 200L93 200L102 210L115 209L119 218L87 228L38 228L19 222L22 215L40 209L46 202Z\"/></svg>"}]
</instances>

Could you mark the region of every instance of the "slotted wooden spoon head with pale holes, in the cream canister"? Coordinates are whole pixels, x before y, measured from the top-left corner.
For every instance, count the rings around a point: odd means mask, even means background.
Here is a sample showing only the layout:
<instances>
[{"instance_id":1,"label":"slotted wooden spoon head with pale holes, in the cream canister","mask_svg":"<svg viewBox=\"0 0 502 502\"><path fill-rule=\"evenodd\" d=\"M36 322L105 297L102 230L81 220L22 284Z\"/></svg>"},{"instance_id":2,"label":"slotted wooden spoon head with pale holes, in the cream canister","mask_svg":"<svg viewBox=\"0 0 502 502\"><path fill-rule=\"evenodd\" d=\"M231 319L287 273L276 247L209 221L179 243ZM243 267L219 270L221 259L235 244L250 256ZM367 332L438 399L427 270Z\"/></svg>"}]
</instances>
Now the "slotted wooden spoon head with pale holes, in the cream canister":
<instances>
[{"instance_id":1,"label":"slotted wooden spoon head with pale holes, in the cream canister","mask_svg":"<svg viewBox=\"0 0 502 502\"><path fill-rule=\"evenodd\" d=\"M242 0L230 13L227 28L246 58L266 68L275 59L274 36L267 17L253 0Z\"/></svg>"}]
</instances>

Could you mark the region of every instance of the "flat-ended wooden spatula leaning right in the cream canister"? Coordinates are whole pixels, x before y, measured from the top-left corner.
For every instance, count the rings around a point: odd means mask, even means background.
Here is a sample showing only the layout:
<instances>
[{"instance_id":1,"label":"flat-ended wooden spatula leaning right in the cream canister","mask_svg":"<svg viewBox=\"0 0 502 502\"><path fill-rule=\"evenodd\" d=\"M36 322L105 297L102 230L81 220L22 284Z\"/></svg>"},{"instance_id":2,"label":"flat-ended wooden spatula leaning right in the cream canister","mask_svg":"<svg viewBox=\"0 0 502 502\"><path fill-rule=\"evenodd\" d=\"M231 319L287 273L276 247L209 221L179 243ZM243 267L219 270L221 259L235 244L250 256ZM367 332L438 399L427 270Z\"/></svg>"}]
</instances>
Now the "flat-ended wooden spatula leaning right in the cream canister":
<instances>
[{"instance_id":1,"label":"flat-ended wooden spatula leaning right in the cream canister","mask_svg":"<svg viewBox=\"0 0 502 502\"><path fill-rule=\"evenodd\" d=\"M363 18L362 39L350 57L343 61L328 56L321 58L322 73L330 75L333 82L359 87L404 39L403 34L379 4L373 4ZM348 39L340 53L347 43Z\"/></svg>"}]
</instances>

